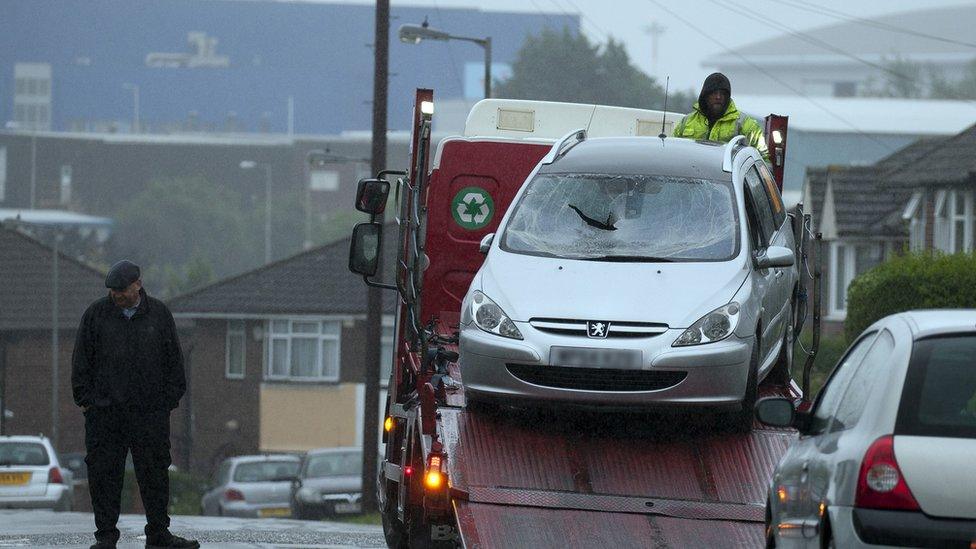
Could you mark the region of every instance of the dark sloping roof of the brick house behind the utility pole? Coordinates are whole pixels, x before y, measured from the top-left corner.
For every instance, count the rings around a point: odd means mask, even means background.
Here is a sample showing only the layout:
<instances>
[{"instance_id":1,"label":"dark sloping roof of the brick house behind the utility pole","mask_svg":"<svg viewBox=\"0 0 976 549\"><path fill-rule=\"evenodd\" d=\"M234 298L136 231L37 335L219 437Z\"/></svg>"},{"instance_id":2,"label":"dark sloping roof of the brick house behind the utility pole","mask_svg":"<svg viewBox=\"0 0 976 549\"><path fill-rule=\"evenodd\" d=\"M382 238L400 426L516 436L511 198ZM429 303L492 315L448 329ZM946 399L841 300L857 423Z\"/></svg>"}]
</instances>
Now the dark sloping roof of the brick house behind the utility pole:
<instances>
[{"instance_id":1,"label":"dark sloping roof of the brick house behind the utility pole","mask_svg":"<svg viewBox=\"0 0 976 549\"><path fill-rule=\"evenodd\" d=\"M383 234L383 268L392 280L396 262L396 226ZM366 284L349 271L350 238L312 248L246 273L174 297L175 315L334 315L365 314ZM393 292L383 293L383 309L392 313Z\"/></svg>"}]
</instances>

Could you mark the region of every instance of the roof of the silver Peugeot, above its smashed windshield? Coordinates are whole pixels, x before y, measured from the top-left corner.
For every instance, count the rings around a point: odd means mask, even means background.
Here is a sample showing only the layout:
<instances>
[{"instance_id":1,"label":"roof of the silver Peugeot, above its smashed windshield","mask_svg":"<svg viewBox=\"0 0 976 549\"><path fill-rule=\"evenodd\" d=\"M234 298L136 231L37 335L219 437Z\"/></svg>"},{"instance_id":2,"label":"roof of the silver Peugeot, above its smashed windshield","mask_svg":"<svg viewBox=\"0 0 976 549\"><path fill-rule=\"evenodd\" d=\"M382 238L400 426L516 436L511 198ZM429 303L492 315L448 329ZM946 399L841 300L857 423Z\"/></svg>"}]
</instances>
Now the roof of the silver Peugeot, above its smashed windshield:
<instances>
[{"instance_id":1,"label":"roof of the silver Peugeot, above its smashed windshield","mask_svg":"<svg viewBox=\"0 0 976 549\"><path fill-rule=\"evenodd\" d=\"M650 174L728 180L725 143L676 137L594 137L571 147L540 173Z\"/></svg>"}]
</instances>

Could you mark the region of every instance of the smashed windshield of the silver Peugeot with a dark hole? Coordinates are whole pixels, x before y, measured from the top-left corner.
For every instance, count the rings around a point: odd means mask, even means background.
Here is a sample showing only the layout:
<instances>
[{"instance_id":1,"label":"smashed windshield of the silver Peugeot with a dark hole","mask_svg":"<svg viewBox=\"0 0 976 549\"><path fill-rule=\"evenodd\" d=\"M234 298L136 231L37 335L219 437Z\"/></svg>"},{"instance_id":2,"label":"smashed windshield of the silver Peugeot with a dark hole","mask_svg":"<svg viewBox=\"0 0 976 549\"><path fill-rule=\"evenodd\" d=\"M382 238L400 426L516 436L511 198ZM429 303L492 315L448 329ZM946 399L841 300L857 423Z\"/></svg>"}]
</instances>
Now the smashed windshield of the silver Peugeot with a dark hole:
<instances>
[{"instance_id":1,"label":"smashed windshield of the silver Peugeot with a dark hole","mask_svg":"<svg viewBox=\"0 0 976 549\"><path fill-rule=\"evenodd\" d=\"M540 174L501 246L594 261L727 261L739 251L738 213L729 181Z\"/></svg>"}]
</instances>

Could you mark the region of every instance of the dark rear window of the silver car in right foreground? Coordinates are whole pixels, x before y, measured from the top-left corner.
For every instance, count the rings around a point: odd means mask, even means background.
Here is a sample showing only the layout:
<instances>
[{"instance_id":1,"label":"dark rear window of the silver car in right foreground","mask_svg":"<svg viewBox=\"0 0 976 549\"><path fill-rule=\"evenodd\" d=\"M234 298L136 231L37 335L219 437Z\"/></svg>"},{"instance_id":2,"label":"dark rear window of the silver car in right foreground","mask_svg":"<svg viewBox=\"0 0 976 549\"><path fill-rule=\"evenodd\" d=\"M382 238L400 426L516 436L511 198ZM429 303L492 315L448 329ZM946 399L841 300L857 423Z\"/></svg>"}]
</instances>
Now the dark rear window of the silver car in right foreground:
<instances>
[{"instance_id":1,"label":"dark rear window of the silver car in right foreground","mask_svg":"<svg viewBox=\"0 0 976 549\"><path fill-rule=\"evenodd\" d=\"M976 334L915 342L895 434L976 438Z\"/></svg>"}]
</instances>

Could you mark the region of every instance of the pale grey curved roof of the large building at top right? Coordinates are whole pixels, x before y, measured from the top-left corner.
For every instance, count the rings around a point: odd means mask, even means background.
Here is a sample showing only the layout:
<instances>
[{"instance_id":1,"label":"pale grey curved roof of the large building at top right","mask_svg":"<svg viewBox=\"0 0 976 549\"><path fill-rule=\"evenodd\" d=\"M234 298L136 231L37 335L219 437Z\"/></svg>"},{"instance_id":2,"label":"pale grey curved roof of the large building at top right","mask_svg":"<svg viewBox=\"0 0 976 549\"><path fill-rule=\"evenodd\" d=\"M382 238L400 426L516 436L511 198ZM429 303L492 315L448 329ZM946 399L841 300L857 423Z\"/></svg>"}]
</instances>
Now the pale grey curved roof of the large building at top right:
<instances>
[{"instance_id":1,"label":"pale grey curved roof of the large building at top right","mask_svg":"<svg viewBox=\"0 0 976 549\"><path fill-rule=\"evenodd\" d=\"M954 59L956 55L968 60L972 58L972 49L966 45L946 40L933 40L921 35L929 34L968 43L972 42L974 23L976 23L976 6L943 6L824 25L803 30L802 34L789 33L753 42L736 48L736 52L748 56L755 62L762 62L766 57L789 56L794 59L794 62L803 58L812 58L809 59L810 61L823 61L827 57L840 57L836 54L831 55L819 45L829 43L838 49L871 61L898 56L912 60L936 61ZM915 34L906 33L901 29L911 29ZM844 61L854 62L850 59ZM742 61L729 54L720 54L708 58L703 64L731 63L742 63Z\"/></svg>"}]
</instances>

